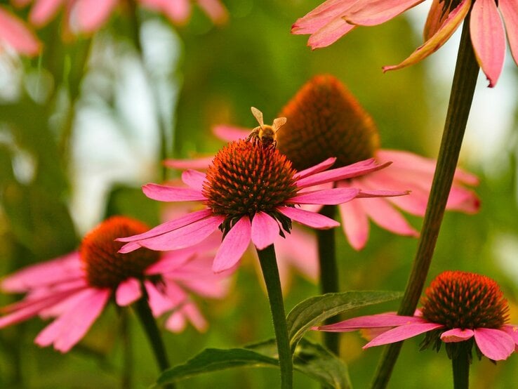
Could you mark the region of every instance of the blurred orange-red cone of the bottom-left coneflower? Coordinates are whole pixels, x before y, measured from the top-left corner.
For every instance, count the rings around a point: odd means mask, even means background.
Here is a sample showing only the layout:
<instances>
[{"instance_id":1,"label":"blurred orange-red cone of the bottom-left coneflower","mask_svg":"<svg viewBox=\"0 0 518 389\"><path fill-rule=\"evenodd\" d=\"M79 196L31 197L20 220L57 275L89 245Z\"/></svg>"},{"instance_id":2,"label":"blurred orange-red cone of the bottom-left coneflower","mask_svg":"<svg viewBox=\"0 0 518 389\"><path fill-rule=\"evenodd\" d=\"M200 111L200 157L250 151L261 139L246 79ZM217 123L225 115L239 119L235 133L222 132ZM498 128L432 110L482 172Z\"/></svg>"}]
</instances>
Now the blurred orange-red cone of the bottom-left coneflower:
<instances>
[{"instance_id":1,"label":"blurred orange-red cone of the bottom-left coneflower","mask_svg":"<svg viewBox=\"0 0 518 389\"><path fill-rule=\"evenodd\" d=\"M126 254L117 253L124 243L114 239L147 230L147 225L138 220L113 216L89 232L79 249L88 284L114 289L129 277L142 279L145 268L159 260L159 253L144 248Z\"/></svg>"}]
</instances>

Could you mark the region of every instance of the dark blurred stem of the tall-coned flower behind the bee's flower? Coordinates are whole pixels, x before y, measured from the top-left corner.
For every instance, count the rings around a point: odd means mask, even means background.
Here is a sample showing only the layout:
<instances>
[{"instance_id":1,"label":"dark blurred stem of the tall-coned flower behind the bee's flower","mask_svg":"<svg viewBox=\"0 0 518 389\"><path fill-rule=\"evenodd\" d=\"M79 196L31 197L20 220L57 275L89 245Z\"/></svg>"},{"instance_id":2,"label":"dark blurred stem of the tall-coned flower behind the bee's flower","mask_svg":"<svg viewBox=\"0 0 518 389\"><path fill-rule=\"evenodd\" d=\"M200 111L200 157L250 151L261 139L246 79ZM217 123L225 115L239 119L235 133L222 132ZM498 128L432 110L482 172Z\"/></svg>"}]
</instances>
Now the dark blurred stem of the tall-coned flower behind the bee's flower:
<instances>
[{"instance_id":1,"label":"dark blurred stem of the tall-coned flower behind the bee's flower","mask_svg":"<svg viewBox=\"0 0 518 389\"><path fill-rule=\"evenodd\" d=\"M336 218L336 206L326 205L320 211L321 215ZM339 291L338 264L336 263L335 230L317 230L320 263L320 290L322 294ZM330 317L324 324L336 322L336 317ZM326 348L340 355L340 334L338 332L324 332Z\"/></svg>"}]
</instances>

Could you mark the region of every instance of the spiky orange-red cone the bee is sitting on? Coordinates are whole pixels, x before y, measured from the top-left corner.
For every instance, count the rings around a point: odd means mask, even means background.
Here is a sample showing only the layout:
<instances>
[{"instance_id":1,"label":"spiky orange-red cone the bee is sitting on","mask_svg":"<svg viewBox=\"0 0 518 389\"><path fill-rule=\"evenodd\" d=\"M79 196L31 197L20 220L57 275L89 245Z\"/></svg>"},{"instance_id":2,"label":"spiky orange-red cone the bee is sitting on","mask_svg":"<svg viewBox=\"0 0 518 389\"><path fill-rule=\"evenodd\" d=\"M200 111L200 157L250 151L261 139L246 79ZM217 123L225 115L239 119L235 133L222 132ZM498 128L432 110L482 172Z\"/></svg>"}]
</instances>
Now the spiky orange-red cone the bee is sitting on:
<instances>
[{"instance_id":1,"label":"spiky orange-red cone the bee is sitting on","mask_svg":"<svg viewBox=\"0 0 518 389\"><path fill-rule=\"evenodd\" d=\"M275 207L297 192L294 174L291 162L271 145L231 142L208 167L203 187L206 205L216 215L226 216L228 223L259 211L276 217Z\"/></svg>"}]
</instances>

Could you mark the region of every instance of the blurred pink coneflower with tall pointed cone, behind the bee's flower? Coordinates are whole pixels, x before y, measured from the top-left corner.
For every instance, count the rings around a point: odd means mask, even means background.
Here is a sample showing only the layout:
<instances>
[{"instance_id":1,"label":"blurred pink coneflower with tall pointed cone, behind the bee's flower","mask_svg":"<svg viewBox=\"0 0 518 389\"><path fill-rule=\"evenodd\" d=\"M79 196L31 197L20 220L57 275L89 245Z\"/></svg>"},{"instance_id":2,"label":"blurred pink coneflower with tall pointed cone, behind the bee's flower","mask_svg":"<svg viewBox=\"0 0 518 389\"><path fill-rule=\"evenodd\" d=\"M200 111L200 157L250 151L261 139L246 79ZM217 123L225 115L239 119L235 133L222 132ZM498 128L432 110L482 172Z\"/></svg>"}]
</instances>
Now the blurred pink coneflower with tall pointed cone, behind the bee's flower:
<instances>
[{"instance_id":1,"label":"blurred pink coneflower with tall pointed cone, behind the bee's flower","mask_svg":"<svg viewBox=\"0 0 518 389\"><path fill-rule=\"evenodd\" d=\"M382 149L371 115L336 77L330 75L319 75L308 81L280 116L288 121L277 133L277 148L295 169L306 169L328 157L336 157L335 166L347 166L367 158L375 158L380 163L392 161L387 169L338 180L335 185L361 190L405 188L411 191L408 196L361 199L338 206L345 236L354 249L360 250L366 245L370 229L368 220L395 234L418 236L418 231L398 209L424 216L435 171L433 159ZM250 130L218 126L215 132L230 140L244 138ZM173 160L167 164L181 167L185 162ZM457 169L446 209L476 213L479 199L464 185L477 183L476 176Z\"/></svg>"}]
</instances>

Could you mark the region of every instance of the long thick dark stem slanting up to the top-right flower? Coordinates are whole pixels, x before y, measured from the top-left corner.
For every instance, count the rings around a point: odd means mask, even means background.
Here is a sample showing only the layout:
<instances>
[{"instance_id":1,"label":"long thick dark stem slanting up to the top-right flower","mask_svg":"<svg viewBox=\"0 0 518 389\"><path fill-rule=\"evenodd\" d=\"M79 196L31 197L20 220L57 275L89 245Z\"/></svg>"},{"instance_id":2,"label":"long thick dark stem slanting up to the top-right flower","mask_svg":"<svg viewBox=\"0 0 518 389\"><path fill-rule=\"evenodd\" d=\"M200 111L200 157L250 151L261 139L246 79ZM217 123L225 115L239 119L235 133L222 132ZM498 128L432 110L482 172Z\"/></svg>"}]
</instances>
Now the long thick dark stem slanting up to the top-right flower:
<instances>
[{"instance_id":1,"label":"long thick dark stem slanting up to the top-right flower","mask_svg":"<svg viewBox=\"0 0 518 389\"><path fill-rule=\"evenodd\" d=\"M444 216L453 175L458 162L460 146L470 114L474 88L477 84L479 66L474 57L470 40L470 13L466 15L463 33L460 37L455 74L451 86L451 95L444 124L444 133L437 159L437 169L432 181L430 198L428 199L423 230L421 231L418 250L406 285L406 291L399 307L399 315L413 315L425 279L432 262L432 256L439 235L439 228ZM402 342L393 343L385 348L378 371L373 381L373 388L385 388L397 361Z\"/></svg>"}]
</instances>

